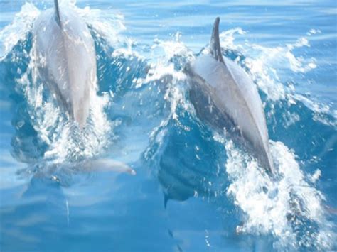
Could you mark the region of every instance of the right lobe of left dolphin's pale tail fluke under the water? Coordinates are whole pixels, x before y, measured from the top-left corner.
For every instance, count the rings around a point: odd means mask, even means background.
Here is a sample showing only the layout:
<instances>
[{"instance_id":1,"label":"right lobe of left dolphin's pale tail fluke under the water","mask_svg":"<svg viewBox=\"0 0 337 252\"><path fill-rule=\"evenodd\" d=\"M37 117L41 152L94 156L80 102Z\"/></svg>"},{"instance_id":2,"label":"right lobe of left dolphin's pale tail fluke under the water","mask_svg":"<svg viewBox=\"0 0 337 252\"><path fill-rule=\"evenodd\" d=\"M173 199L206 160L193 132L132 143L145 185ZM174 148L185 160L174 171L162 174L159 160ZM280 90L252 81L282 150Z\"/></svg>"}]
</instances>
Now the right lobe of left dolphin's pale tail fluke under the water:
<instances>
[{"instance_id":1,"label":"right lobe of left dolphin's pale tail fluke under the water","mask_svg":"<svg viewBox=\"0 0 337 252\"><path fill-rule=\"evenodd\" d=\"M89 172L119 172L136 175L136 172L129 165L109 158L89 160L83 163L82 168Z\"/></svg>"}]
</instances>

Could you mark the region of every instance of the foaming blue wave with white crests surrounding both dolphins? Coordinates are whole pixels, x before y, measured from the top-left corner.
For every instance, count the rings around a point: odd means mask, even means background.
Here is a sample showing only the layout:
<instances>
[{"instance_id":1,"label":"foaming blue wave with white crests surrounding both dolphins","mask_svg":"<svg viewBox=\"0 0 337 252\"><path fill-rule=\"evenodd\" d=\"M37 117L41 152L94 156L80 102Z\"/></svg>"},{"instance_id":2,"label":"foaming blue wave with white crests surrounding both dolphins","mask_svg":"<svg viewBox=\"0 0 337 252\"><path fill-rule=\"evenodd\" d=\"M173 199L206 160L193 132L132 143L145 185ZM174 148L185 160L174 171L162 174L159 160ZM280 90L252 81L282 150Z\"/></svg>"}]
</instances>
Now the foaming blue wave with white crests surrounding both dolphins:
<instances>
[{"instance_id":1,"label":"foaming blue wave with white crests surrounding both dolphins","mask_svg":"<svg viewBox=\"0 0 337 252\"><path fill-rule=\"evenodd\" d=\"M325 141L306 136L309 129L304 132L301 125L324 128L326 136L331 136L337 114L328 104L296 92L296 85L287 78L297 80L297 75L317 67L314 58L296 55L296 49L309 48L311 36L319 31L274 48L237 43L235 39L245 35L241 28L220 35L223 55L247 71L261 94L269 134L276 139L270 141L278 170L272 179L228 136L200 121L189 102L182 69L198 54L207 53L207 45L194 53L181 42L181 33L172 40L156 38L152 45L144 45L122 35L126 27L120 13L80 9L74 1L63 4L77 11L90 27L99 90L88 126L80 131L36 80L31 27L40 11L24 4L13 23L0 31L4 72L0 82L6 83L11 97L16 159L41 162L33 170L43 170L111 152L127 161L141 155L168 199L202 197L215 204L224 199L240 209L243 223L237 233L271 234L276 238L274 247L280 250L336 246L336 227L328 219L326 199L316 185L323 169L310 163L313 156L333 153L327 149L319 154L326 148ZM299 141L308 145L296 145ZM308 150L312 141L317 147ZM314 167L314 172L309 173L306 165Z\"/></svg>"}]
</instances>

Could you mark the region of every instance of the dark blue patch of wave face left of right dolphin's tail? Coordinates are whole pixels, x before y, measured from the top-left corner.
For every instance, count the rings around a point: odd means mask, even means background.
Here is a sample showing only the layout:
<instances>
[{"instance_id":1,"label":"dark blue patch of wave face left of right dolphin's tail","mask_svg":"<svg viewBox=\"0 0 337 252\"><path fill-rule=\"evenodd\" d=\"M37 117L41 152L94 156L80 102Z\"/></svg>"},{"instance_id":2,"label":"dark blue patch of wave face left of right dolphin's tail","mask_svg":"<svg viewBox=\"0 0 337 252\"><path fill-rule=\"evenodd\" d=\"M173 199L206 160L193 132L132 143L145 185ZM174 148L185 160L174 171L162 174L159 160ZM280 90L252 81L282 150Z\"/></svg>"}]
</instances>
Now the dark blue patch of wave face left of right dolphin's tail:
<instances>
[{"instance_id":1,"label":"dark blue patch of wave face left of right dolphin's tail","mask_svg":"<svg viewBox=\"0 0 337 252\"><path fill-rule=\"evenodd\" d=\"M190 197L214 200L228 185L223 146L213 140L210 128L200 124L188 111L179 109L179 121L170 119L161 143L152 141L144 153L144 160L161 182L165 204ZM187 129L187 130L186 130Z\"/></svg>"}]
</instances>

